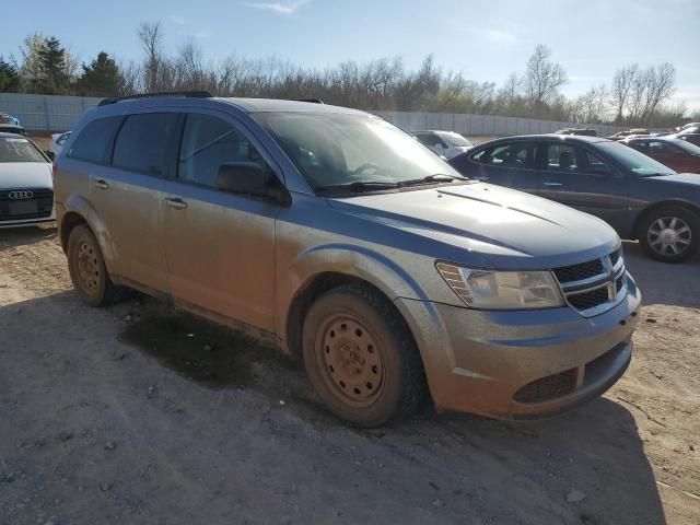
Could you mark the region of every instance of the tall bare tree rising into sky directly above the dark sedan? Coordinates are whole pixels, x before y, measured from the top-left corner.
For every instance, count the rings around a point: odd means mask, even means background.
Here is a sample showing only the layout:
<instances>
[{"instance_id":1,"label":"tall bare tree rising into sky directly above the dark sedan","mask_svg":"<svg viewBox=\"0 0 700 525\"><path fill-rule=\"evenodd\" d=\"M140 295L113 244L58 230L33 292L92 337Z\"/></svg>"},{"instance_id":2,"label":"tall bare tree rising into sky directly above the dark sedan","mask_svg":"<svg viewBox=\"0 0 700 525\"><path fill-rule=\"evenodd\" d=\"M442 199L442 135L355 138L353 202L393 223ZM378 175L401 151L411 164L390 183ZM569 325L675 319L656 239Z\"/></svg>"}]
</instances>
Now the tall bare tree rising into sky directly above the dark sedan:
<instances>
[{"instance_id":1,"label":"tall bare tree rising into sky directly above the dark sedan","mask_svg":"<svg viewBox=\"0 0 700 525\"><path fill-rule=\"evenodd\" d=\"M550 60L551 49L539 44L527 59L524 89L536 114L541 113L548 100L553 98L559 88L569 82L564 68Z\"/></svg>"}]
</instances>

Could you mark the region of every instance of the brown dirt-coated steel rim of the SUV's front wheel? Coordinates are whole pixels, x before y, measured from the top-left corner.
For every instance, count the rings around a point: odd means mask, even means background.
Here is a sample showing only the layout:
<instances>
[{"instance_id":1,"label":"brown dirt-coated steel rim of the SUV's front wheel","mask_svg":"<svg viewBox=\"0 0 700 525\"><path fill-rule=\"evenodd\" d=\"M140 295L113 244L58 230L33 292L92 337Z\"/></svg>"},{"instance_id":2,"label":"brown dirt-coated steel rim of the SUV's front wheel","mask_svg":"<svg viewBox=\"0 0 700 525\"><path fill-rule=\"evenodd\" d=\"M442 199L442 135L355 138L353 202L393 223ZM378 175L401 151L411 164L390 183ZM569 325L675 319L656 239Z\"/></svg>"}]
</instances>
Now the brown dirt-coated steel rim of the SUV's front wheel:
<instances>
[{"instance_id":1,"label":"brown dirt-coated steel rim of the SUV's front wheel","mask_svg":"<svg viewBox=\"0 0 700 525\"><path fill-rule=\"evenodd\" d=\"M342 402L368 407L382 394L382 348L354 317L343 314L328 318L318 331L316 355L324 382Z\"/></svg>"}]
</instances>

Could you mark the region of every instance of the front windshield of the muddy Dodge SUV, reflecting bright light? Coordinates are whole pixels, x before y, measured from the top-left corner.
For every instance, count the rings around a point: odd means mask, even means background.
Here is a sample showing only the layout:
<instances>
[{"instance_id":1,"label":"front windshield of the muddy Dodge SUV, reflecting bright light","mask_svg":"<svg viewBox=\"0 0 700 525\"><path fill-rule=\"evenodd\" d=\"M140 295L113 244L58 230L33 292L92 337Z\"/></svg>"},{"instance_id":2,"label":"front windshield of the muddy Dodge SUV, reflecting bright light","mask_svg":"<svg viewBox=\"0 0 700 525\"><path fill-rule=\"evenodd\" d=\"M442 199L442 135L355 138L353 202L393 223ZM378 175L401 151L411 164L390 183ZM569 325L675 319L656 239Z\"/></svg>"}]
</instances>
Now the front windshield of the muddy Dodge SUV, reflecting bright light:
<instances>
[{"instance_id":1,"label":"front windshield of the muddy Dodge SUV, reflecting bright light","mask_svg":"<svg viewBox=\"0 0 700 525\"><path fill-rule=\"evenodd\" d=\"M260 113L256 120L280 144L314 190L351 184L401 184L460 175L410 135L370 115Z\"/></svg>"}]
</instances>

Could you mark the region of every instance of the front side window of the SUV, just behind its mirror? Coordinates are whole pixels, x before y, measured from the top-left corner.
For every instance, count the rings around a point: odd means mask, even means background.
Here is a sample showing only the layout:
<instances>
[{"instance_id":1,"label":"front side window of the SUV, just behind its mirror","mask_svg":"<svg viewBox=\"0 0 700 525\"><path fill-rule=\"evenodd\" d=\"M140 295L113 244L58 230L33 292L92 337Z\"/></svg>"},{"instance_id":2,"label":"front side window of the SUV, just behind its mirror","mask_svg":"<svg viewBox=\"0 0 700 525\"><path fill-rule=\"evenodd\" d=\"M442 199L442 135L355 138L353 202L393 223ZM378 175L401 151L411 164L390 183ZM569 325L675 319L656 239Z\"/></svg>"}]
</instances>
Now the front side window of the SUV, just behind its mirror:
<instances>
[{"instance_id":1,"label":"front side window of the SUV, just behind its mirror","mask_svg":"<svg viewBox=\"0 0 700 525\"><path fill-rule=\"evenodd\" d=\"M177 165L177 178L214 188L222 164L254 162L269 166L233 125L210 115L189 114Z\"/></svg>"}]
</instances>

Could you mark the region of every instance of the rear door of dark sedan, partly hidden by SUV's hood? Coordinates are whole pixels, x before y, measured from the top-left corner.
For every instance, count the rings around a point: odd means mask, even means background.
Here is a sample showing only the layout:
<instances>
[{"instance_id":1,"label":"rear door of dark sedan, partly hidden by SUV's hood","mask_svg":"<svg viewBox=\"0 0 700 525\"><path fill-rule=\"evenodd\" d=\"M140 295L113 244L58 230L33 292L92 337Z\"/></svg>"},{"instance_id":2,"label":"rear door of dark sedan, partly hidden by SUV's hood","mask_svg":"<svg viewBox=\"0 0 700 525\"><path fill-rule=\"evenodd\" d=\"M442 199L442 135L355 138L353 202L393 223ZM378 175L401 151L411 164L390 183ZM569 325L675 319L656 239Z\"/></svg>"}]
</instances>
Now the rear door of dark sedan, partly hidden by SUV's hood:
<instances>
[{"instance_id":1,"label":"rear door of dark sedan, partly hidden by SUV's hood","mask_svg":"<svg viewBox=\"0 0 700 525\"><path fill-rule=\"evenodd\" d=\"M499 186L530 194L538 191L538 173L535 159L538 143L514 140L499 142L470 156L472 170L468 176Z\"/></svg>"}]
</instances>

